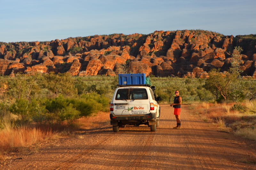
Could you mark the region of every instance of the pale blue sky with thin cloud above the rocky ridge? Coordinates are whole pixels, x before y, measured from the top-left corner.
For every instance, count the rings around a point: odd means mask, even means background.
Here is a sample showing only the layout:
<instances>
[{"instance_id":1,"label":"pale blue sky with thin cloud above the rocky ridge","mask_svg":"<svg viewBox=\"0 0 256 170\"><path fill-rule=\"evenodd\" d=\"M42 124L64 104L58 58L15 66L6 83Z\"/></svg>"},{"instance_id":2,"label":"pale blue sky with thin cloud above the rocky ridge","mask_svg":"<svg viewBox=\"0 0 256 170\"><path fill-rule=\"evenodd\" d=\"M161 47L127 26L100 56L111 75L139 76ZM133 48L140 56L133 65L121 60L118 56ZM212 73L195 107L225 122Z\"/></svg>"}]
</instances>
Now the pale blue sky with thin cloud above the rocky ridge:
<instances>
[{"instance_id":1,"label":"pale blue sky with thin cloud above the rocky ridge","mask_svg":"<svg viewBox=\"0 0 256 170\"><path fill-rule=\"evenodd\" d=\"M256 34L256 0L0 0L0 42L185 29Z\"/></svg>"}]
</instances>

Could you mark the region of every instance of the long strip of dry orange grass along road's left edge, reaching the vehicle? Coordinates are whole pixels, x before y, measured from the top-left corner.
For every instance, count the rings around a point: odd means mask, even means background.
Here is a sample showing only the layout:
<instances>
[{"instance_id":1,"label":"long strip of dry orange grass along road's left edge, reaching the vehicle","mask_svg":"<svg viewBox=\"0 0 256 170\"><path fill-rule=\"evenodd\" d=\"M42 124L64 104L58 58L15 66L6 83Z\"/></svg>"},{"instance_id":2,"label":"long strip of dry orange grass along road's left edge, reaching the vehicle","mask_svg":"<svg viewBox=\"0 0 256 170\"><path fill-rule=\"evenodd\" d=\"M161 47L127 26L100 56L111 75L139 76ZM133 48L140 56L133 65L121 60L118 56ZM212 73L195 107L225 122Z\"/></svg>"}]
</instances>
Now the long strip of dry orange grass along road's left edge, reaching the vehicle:
<instances>
[{"instance_id":1,"label":"long strip of dry orange grass along road's left edge, reaching the vehicle","mask_svg":"<svg viewBox=\"0 0 256 170\"><path fill-rule=\"evenodd\" d=\"M79 127L91 128L105 125L106 122L108 123L108 119L108 112L100 112L91 117L82 117L73 124L63 122L52 125L30 124L28 126L17 126L10 122L4 123L4 129L0 130L0 154L10 152L15 148L30 147L45 140L56 140L62 136L73 135Z\"/></svg>"}]
</instances>

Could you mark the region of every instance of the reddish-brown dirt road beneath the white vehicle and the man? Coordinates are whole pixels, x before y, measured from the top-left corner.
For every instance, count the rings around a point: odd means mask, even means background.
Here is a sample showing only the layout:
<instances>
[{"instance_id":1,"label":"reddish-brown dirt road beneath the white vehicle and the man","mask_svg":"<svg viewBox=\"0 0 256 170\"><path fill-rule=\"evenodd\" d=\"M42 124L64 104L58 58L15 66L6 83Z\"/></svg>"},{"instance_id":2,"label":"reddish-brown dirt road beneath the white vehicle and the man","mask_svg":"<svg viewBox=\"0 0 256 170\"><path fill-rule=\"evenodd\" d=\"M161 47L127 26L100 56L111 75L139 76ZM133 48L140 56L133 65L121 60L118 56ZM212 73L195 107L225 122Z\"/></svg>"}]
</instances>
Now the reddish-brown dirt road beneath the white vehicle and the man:
<instances>
[{"instance_id":1,"label":"reddish-brown dirt road beneath the white vehicle and the man","mask_svg":"<svg viewBox=\"0 0 256 170\"><path fill-rule=\"evenodd\" d=\"M45 144L39 152L0 169L256 169L255 142L220 132L182 105L181 128L173 108L161 105L160 126L128 126L112 131L109 120L76 137ZM245 163L247 162L247 163Z\"/></svg>"}]
</instances>

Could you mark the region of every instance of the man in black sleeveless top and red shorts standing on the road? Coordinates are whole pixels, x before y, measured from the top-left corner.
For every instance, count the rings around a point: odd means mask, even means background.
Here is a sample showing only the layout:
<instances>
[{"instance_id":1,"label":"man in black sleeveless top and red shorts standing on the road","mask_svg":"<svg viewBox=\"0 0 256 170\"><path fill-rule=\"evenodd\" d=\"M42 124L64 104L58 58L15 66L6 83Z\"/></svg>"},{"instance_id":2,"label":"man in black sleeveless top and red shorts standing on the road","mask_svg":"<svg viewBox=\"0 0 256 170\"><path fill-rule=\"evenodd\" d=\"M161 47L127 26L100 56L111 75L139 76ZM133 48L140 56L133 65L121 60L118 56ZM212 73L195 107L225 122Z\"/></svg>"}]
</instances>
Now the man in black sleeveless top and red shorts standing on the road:
<instances>
[{"instance_id":1,"label":"man in black sleeveless top and red shorts standing on the road","mask_svg":"<svg viewBox=\"0 0 256 170\"><path fill-rule=\"evenodd\" d=\"M180 93L178 90L175 91L175 97L174 97L174 101L173 103L170 105L172 107L174 107L174 115L176 117L177 120L177 126L173 127L173 129L181 129L180 127L180 110L181 110L181 102L182 99L180 97Z\"/></svg>"}]
</instances>

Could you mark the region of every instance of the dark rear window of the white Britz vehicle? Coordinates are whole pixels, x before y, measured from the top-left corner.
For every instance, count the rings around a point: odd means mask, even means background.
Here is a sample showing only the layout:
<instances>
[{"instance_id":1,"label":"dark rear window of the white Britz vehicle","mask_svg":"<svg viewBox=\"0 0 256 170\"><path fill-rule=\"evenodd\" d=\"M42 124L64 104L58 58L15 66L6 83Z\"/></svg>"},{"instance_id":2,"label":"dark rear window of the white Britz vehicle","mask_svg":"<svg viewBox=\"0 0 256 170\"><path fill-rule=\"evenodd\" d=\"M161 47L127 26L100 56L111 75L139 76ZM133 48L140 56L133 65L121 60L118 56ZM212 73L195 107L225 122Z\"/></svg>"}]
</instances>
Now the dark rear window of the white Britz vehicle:
<instances>
[{"instance_id":1,"label":"dark rear window of the white Britz vehicle","mask_svg":"<svg viewBox=\"0 0 256 170\"><path fill-rule=\"evenodd\" d=\"M147 90L144 88L118 89L116 92L116 100L143 100L148 99Z\"/></svg>"}]
</instances>

